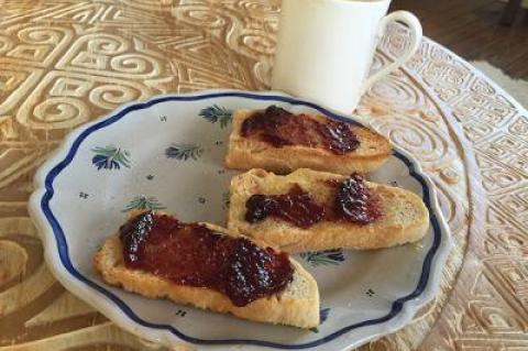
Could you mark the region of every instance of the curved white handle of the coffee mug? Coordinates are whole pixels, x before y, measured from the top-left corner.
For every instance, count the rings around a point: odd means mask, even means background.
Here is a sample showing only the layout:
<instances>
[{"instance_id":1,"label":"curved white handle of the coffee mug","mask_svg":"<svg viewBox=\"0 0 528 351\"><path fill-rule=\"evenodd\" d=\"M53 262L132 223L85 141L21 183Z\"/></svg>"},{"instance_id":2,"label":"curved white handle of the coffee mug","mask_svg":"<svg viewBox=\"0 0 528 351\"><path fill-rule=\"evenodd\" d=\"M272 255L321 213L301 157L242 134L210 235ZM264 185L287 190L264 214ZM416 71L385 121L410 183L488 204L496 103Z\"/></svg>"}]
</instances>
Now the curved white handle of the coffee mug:
<instances>
[{"instance_id":1,"label":"curved white handle of the coffee mug","mask_svg":"<svg viewBox=\"0 0 528 351\"><path fill-rule=\"evenodd\" d=\"M386 17L384 17L380 21L380 29L378 29L378 37L382 37L385 33L387 24L393 21L404 22L410 29L410 45L407 51L398 58L396 58L393 63L388 64L387 66L383 67L371 77L369 77L362 87L362 92L365 92L374 83L376 83L383 76L392 73L393 70L397 69L402 66L407 59L409 59L420 46L421 41L421 24L420 21L408 11L394 11Z\"/></svg>"}]
</instances>

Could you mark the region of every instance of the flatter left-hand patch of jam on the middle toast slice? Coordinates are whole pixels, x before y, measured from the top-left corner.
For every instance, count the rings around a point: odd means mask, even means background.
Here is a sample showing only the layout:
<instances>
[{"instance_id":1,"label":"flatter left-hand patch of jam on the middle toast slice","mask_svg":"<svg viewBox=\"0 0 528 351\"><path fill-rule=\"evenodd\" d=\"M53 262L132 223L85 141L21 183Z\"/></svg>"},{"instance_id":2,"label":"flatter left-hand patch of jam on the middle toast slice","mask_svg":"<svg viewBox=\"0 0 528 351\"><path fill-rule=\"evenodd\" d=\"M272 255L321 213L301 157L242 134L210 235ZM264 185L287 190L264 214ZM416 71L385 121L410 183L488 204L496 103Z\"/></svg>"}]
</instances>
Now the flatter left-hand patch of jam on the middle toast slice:
<instances>
[{"instance_id":1,"label":"flatter left-hand patch of jam on the middle toast slice","mask_svg":"<svg viewBox=\"0 0 528 351\"><path fill-rule=\"evenodd\" d=\"M283 195L252 195L245 202L245 220L250 223L272 216L300 228L310 228L324 217L324 208L316 204L297 184Z\"/></svg>"}]
</instances>

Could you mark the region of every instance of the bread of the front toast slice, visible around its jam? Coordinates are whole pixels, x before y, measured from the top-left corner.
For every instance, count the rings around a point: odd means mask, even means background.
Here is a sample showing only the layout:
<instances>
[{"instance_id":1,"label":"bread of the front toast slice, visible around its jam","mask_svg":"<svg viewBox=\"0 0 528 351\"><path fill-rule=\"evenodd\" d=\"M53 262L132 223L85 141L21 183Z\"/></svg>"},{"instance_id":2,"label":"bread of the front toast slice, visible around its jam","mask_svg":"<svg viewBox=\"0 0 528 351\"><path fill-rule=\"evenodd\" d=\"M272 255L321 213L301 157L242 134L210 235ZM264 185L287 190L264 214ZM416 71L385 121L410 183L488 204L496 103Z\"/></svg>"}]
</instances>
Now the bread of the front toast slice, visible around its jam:
<instances>
[{"instance_id":1,"label":"bread of the front toast slice, visible around its jam","mask_svg":"<svg viewBox=\"0 0 528 351\"><path fill-rule=\"evenodd\" d=\"M218 226L201 224L215 232L230 235L226 229ZM270 246L254 242L261 246ZM150 298L168 298L177 304L232 314L254 321L314 328L319 325L317 283L299 263L293 259L290 259L290 263L294 267L294 277L284 290L279 294L258 298L246 306L237 307L227 295L217 290L177 285L147 272L127 268L119 234L108 238L94 257L96 270L101 274L103 281L111 285L121 286L128 292Z\"/></svg>"}]
</instances>

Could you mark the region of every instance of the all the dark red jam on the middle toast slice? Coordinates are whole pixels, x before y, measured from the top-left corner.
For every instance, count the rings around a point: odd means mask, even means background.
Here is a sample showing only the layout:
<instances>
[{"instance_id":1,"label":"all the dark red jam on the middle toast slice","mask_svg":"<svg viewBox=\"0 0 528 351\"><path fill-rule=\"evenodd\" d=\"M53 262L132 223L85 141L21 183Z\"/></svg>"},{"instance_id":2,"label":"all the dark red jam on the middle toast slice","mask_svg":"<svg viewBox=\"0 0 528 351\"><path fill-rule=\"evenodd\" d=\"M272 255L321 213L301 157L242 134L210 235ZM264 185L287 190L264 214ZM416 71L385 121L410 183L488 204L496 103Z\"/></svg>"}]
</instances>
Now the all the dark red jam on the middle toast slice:
<instances>
[{"instance_id":1,"label":"all the dark red jam on the middle toast slice","mask_svg":"<svg viewBox=\"0 0 528 351\"><path fill-rule=\"evenodd\" d=\"M320 221L366 224L382 216L378 199L360 175L327 184L334 193L328 204L317 204L298 184L283 195L252 195L245 202L245 220L255 223L271 216L307 229Z\"/></svg>"}]
</instances>

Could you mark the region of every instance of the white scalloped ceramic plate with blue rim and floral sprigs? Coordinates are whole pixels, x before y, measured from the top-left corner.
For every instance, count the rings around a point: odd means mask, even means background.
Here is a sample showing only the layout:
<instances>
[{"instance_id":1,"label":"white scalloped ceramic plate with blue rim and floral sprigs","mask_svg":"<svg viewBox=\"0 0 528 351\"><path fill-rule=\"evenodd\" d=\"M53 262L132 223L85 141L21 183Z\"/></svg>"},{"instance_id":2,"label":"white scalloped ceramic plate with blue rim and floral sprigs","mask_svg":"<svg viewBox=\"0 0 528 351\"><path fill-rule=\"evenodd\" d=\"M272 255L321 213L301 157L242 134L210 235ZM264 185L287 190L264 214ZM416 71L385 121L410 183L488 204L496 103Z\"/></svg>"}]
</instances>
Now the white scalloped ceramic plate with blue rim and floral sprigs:
<instances>
[{"instance_id":1,"label":"white scalloped ceramic plate with blue rim and floral sprigs","mask_svg":"<svg viewBox=\"0 0 528 351\"><path fill-rule=\"evenodd\" d=\"M417 244L389 250L298 256L319 283L322 323L317 330L147 299L96 274L95 252L133 208L226 224L228 185L237 174L222 166L231 111L272 103L358 123L276 92L216 90L130 103L73 132L38 171L30 204L58 281L122 328L167 345L342 350L402 328L436 294L451 240L432 183L397 149L371 178L421 196L431 215L429 232Z\"/></svg>"}]
</instances>

